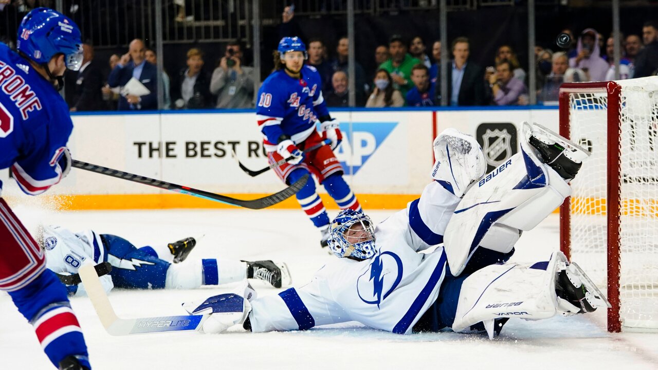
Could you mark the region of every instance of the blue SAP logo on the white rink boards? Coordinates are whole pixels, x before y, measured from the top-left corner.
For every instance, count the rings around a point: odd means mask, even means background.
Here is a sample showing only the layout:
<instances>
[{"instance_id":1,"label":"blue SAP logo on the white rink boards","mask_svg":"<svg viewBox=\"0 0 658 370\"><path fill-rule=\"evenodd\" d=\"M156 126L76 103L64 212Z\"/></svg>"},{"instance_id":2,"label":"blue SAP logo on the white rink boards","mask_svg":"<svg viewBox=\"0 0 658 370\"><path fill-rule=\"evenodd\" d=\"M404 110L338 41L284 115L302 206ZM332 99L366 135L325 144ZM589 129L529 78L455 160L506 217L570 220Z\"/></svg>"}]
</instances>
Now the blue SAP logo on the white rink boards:
<instances>
[{"instance_id":1,"label":"blue SAP logo on the white rink boards","mask_svg":"<svg viewBox=\"0 0 658 370\"><path fill-rule=\"evenodd\" d=\"M345 174L357 174L396 126L397 122L341 123L343 141L334 153Z\"/></svg>"}]
</instances>

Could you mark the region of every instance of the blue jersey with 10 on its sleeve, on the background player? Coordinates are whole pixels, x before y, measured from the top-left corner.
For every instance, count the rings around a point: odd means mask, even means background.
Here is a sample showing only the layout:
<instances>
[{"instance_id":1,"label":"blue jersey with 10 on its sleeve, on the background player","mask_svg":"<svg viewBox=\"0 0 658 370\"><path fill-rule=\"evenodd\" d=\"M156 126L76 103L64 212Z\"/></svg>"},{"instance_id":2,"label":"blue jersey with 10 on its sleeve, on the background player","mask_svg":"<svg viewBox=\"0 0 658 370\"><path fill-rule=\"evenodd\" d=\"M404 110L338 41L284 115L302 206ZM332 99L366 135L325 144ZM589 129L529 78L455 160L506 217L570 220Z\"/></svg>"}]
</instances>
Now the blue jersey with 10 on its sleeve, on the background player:
<instances>
[{"instance_id":1,"label":"blue jersey with 10 on its sleeve, on the background player","mask_svg":"<svg viewBox=\"0 0 658 370\"><path fill-rule=\"evenodd\" d=\"M329 116L318 71L305 65L300 73L301 78L293 78L285 70L272 72L258 90L256 117L267 151L276 150L282 135L295 144L303 142L315 130L318 117Z\"/></svg>"}]
</instances>

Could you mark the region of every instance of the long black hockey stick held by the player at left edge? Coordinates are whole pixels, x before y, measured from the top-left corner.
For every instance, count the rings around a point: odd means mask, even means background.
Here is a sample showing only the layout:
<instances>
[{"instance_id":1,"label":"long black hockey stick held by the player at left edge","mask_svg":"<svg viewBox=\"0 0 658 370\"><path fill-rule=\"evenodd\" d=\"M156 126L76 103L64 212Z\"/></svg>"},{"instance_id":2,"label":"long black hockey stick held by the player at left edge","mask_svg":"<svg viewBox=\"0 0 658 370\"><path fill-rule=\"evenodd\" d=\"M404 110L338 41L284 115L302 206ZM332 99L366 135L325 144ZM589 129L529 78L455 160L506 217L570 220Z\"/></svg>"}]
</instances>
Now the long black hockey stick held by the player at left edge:
<instances>
[{"instance_id":1,"label":"long black hockey stick held by the player at left edge","mask_svg":"<svg viewBox=\"0 0 658 370\"><path fill-rule=\"evenodd\" d=\"M171 182L155 180L155 178L148 178L146 176L139 176L137 174L109 169L107 167L102 167L99 165L92 165L91 163L76 161L75 159L73 160L73 167L86 171L105 174L107 176L122 178L128 181L139 182L140 184L155 186L156 188L171 190L172 192L177 192L180 194L187 194L188 196L208 199L212 201L219 201L221 203L236 205L238 207L245 207L249 209L262 209L290 198L291 196L293 196L293 194L298 192L299 189L303 188L303 186L306 184L309 178L309 176L306 174L301 178L299 178L299 180L295 181L293 184L288 186L288 188L285 188L284 190L281 190L278 193L263 198L243 200L243 199L230 198L227 196L222 196L220 194L215 194L211 192L205 192L203 190L189 188L188 186L172 184Z\"/></svg>"}]
</instances>

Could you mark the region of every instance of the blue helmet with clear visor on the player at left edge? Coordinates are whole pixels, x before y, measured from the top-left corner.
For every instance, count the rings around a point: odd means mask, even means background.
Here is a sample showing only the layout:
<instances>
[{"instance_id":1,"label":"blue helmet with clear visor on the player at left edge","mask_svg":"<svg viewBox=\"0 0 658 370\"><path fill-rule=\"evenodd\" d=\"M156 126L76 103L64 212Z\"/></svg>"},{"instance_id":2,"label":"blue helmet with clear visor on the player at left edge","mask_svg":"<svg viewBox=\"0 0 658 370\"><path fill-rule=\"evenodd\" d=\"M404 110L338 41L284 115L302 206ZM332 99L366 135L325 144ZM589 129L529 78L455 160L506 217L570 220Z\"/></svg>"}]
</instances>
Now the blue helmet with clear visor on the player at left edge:
<instances>
[{"instance_id":1,"label":"blue helmet with clear visor on the player at left edge","mask_svg":"<svg viewBox=\"0 0 658 370\"><path fill-rule=\"evenodd\" d=\"M62 53L66 68L80 70L82 41L80 28L68 16L53 9L36 8L18 26L18 51L43 65Z\"/></svg>"}]
</instances>

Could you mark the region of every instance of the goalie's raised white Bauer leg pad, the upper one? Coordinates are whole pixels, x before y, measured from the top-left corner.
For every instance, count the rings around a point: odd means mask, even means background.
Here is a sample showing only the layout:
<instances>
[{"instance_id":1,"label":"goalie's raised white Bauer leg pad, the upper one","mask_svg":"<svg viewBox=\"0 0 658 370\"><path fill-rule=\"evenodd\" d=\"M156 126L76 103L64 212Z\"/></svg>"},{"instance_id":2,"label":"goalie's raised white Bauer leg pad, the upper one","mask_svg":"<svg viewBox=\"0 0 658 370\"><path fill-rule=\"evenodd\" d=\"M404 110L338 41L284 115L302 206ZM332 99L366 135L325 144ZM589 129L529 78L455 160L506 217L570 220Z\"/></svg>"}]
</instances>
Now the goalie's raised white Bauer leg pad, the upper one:
<instances>
[{"instance_id":1,"label":"goalie's raised white Bauer leg pad, the upper one","mask_svg":"<svg viewBox=\"0 0 658 370\"><path fill-rule=\"evenodd\" d=\"M569 184L536 156L521 151L487 174L457 205L443 240L455 276L480 246L506 253L571 194Z\"/></svg>"}]
</instances>

